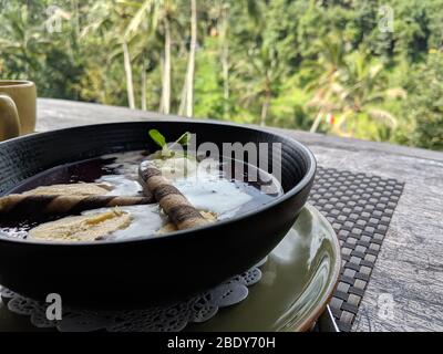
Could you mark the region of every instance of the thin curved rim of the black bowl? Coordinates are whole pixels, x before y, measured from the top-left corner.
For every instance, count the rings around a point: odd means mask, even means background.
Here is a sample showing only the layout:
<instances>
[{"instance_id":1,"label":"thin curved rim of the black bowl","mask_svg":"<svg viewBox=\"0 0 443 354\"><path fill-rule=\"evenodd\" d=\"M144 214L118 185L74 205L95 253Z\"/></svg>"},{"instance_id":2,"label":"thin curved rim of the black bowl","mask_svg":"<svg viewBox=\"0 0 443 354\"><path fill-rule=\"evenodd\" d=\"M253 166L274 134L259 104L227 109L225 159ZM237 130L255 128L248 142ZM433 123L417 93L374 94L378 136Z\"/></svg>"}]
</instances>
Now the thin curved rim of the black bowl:
<instances>
[{"instance_id":1,"label":"thin curved rim of the black bowl","mask_svg":"<svg viewBox=\"0 0 443 354\"><path fill-rule=\"evenodd\" d=\"M39 135L39 136L52 135L52 134L63 133L66 131L81 129L81 128L86 128L86 127L93 128L93 127L106 127L106 126L112 126L112 125L116 126L116 125L121 125L121 124L131 125L131 124L156 124L156 123L163 123L163 124L165 124L165 123L185 123L185 124L202 124L202 125L212 125L212 126L229 126L229 127L243 128L243 129L248 129L248 131L255 131L256 133L270 134L270 135L279 137L282 140L282 144L290 143L292 145L296 145L297 148L300 152L302 152L306 157L308 157L308 160L309 160L308 170L305 173L303 177L300 179L300 181L297 185L295 185L288 191L285 191L281 196L278 196L274 200L267 202L266 205L260 206L259 208L257 208L255 210L241 214L239 216L235 216L235 217L226 219L226 220L220 220L220 221L217 221L212 225L196 227L190 230L178 230L178 231L174 231L171 233L156 236L155 238L150 238L148 236L142 236L142 237L130 238L130 239L102 240L100 242L96 242L96 241L76 241L76 242L41 241L41 240L29 240L29 239L9 238L9 237L0 236L0 242L12 242L12 243L22 243L22 244L30 244L30 246L31 244L32 246L47 246L47 247L51 246L51 247L60 247L60 248L64 248L64 247L71 247L71 248L72 247L110 247L110 246L116 246L120 243L137 243L137 242L142 242L142 241L158 242L165 238L174 239L177 237L181 238L182 236L185 236L185 235L192 236L196 231L200 231L200 230L208 230L208 232L210 232L212 229L218 228L220 226L223 227L224 225L227 225L230 222L245 220L245 219L251 217L253 215L267 211L267 210L276 207L277 205L290 199L291 197L297 195L300 190L302 190L313 179L313 177L316 175L317 160L316 160L315 155L307 146L305 146L297 139L288 137L288 136L281 134L281 133L278 133L274 129L271 131L269 128L267 129L267 128L262 128L262 127L258 127L258 126L254 126L254 125L241 125L241 124L236 124L236 123L230 123L230 122L229 123L217 122L214 119L195 119L195 118L193 118L192 121L186 121L186 118L164 118L164 119L155 118L155 119L148 119L148 121L140 121L138 119L138 121L130 121L130 122L122 121L122 122L113 122L113 123L80 125L80 126L74 126L74 127L53 129L53 131L42 132L42 133L32 133L32 134L29 134L25 136L14 137L12 139L1 142L0 150L1 150L2 146L4 146L4 145L9 145L9 144L12 144L13 142L18 142L18 140L23 142L29 138L33 138L37 135Z\"/></svg>"}]
</instances>

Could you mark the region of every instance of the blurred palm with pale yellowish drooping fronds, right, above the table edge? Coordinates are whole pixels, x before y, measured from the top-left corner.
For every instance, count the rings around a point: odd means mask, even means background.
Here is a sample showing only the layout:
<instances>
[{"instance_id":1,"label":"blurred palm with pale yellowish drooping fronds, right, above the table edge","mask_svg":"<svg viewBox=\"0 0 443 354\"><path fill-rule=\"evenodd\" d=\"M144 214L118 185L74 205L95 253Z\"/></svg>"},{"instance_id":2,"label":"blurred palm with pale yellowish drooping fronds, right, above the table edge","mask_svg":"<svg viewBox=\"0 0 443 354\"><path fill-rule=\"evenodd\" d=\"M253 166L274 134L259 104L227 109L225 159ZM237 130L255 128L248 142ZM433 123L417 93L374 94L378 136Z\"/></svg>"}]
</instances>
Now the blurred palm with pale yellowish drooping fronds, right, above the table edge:
<instances>
[{"instance_id":1,"label":"blurred palm with pale yellowish drooping fronds, right, above the table edge","mask_svg":"<svg viewBox=\"0 0 443 354\"><path fill-rule=\"evenodd\" d=\"M383 66L375 60L370 60L363 52L346 54L344 43L338 35L329 35L319 43L319 58L307 62L306 66L313 73L308 91L313 96L308 106L317 110L310 132L316 132L321 119L330 113L337 113L338 122L333 131L339 135L352 136L343 131L347 122L360 114L394 127L396 118L380 107L388 98L404 95L398 87L387 88Z\"/></svg>"}]
</instances>

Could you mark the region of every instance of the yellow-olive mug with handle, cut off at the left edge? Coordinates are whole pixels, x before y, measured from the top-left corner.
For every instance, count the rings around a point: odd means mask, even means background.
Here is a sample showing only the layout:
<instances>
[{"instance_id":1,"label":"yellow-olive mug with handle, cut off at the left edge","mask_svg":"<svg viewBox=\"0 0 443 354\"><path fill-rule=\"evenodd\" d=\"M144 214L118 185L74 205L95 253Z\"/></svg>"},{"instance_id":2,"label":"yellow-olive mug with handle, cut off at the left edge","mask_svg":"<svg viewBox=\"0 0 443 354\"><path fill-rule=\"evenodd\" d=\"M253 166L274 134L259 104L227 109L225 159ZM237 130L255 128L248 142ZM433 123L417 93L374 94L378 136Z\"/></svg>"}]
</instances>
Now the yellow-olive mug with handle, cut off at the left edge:
<instances>
[{"instance_id":1,"label":"yellow-olive mug with handle, cut off at the left edge","mask_svg":"<svg viewBox=\"0 0 443 354\"><path fill-rule=\"evenodd\" d=\"M0 142L34 132L35 118L35 84L0 80Z\"/></svg>"}]
</instances>

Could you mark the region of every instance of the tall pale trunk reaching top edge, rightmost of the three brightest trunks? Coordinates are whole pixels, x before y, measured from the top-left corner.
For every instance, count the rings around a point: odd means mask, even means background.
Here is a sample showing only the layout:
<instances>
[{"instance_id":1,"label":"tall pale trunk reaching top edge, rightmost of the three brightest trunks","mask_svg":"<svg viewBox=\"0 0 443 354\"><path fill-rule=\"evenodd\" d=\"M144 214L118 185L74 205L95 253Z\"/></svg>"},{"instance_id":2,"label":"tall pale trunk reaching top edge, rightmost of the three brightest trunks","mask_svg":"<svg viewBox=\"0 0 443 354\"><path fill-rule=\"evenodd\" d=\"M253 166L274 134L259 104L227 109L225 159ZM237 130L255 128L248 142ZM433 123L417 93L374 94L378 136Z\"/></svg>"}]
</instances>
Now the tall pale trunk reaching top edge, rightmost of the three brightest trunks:
<instances>
[{"instance_id":1,"label":"tall pale trunk reaching top edge, rightmost of the three brightest trunks","mask_svg":"<svg viewBox=\"0 0 443 354\"><path fill-rule=\"evenodd\" d=\"M188 117L194 114L194 72L195 72L195 52L197 48L197 3L190 0L190 44L189 58L187 61L187 71L185 86L182 92L182 102L179 114Z\"/></svg>"}]
</instances>

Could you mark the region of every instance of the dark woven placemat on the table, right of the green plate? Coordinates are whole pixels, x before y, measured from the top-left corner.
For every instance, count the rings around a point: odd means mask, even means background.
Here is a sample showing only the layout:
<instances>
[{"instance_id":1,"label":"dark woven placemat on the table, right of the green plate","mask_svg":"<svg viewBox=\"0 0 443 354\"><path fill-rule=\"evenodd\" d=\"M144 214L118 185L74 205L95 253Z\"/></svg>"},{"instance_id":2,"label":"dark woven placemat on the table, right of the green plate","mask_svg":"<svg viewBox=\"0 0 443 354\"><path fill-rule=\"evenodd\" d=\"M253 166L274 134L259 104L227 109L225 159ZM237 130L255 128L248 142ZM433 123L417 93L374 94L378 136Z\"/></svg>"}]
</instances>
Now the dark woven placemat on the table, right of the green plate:
<instances>
[{"instance_id":1,"label":"dark woven placemat on the table, right of the green plate","mask_svg":"<svg viewBox=\"0 0 443 354\"><path fill-rule=\"evenodd\" d=\"M318 168L310 202L336 230L342 272L330 308L340 331L349 332L374 268L403 183L334 168Z\"/></svg>"}]
</instances>

